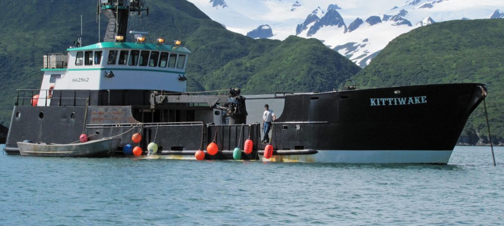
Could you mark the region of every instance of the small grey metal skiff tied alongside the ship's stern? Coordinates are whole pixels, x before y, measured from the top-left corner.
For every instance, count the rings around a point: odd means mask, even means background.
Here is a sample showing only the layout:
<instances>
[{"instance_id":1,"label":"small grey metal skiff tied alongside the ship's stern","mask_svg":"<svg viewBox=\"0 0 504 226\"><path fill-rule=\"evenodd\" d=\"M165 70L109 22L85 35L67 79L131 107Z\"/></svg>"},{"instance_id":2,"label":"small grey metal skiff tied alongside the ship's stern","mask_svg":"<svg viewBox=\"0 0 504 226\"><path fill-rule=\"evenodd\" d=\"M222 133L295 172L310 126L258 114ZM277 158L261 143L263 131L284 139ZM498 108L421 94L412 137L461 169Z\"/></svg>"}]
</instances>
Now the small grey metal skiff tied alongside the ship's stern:
<instances>
[{"instance_id":1,"label":"small grey metal skiff tied alongside the ship's stern","mask_svg":"<svg viewBox=\"0 0 504 226\"><path fill-rule=\"evenodd\" d=\"M18 146L21 156L109 157L120 141L120 138L103 138L71 144L18 142Z\"/></svg>"}]
</instances>

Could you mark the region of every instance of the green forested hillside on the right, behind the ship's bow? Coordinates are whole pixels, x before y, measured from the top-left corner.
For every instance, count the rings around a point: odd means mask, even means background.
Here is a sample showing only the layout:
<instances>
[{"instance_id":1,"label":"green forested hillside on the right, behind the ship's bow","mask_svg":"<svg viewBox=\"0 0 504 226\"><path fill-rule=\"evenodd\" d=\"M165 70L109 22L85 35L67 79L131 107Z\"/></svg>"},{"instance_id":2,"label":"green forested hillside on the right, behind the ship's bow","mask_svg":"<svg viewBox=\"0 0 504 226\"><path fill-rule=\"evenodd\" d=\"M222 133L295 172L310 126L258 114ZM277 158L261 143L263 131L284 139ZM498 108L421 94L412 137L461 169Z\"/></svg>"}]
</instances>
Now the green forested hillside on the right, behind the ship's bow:
<instances>
[{"instance_id":1,"label":"green forested hillside on the right, behind the ship's bow","mask_svg":"<svg viewBox=\"0 0 504 226\"><path fill-rule=\"evenodd\" d=\"M485 83L493 141L504 143L504 19L435 23L391 41L354 78L365 87ZM461 141L487 139L483 104Z\"/></svg>"}]
</instances>

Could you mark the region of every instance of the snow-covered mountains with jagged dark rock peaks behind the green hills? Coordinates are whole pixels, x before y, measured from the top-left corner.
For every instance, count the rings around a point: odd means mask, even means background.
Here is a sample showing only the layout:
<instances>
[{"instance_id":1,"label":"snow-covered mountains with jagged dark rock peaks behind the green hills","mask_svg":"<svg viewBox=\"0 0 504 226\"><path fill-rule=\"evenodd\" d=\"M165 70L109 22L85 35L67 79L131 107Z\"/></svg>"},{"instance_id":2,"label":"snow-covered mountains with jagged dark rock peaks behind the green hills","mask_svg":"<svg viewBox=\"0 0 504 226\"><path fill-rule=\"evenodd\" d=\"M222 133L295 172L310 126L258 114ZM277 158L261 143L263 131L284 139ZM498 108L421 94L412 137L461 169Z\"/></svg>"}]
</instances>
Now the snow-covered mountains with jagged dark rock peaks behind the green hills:
<instances>
[{"instance_id":1,"label":"snow-covered mountains with jagged dark rock peaks behind the green hills","mask_svg":"<svg viewBox=\"0 0 504 226\"><path fill-rule=\"evenodd\" d=\"M213 7L208 0L189 1L228 30L246 34L268 24L273 30L270 39L284 40L289 35L317 38L361 67L395 37L432 21L504 17L500 0L342 0L337 5L333 0L226 0L225 9ZM338 13L341 22L332 21L339 20L333 12L327 20L331 23L319 22L330 10ZM426 18L431 21L424 22ZM369 19L367 24L375 26L362 26L366 24L358 19ZM361 42L364 39L368 41Z\"/></svg>"}]
</instances>

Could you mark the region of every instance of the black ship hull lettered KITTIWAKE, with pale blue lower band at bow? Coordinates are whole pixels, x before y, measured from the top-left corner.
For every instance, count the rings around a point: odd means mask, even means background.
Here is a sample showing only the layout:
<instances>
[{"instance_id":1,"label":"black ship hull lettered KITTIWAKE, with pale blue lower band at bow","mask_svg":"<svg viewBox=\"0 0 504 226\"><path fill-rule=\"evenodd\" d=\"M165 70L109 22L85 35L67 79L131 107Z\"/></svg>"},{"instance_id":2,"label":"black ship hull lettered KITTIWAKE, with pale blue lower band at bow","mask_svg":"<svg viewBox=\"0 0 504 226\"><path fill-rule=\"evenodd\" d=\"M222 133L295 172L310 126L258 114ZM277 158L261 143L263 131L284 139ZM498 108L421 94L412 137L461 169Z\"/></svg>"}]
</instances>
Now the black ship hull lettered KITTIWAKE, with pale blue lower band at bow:
<instances>
[{"instance_id":1,"label":"black ship hull lettered KITTIWAKE, with pale blue lower band at bow","mask_svg":"<svg viewBox=\"0 0 504 226\"><path fill-rule=\"evenodd\" d=\"M19 154L16 143L27 139L74 142L83 130L98 131L97 138L124 133L122 147L131 142L132 130L144 136L139 143L144 149L155 141L161 158L195 159L197 150L215 140L219 152L205 158L233 159L233 149L243 148L250 137L253 153L242 155L242 160L447 164L467 119L485 95L483 84L441 84L247 97L247 109L270 103L278 112L270 135L275 149L271 159L262 156L262 119L250 110L247 124L233 125L223 115L217 117L215 109L187 104L157 105L151 109L151 121L136 115L135 105L15 106L5 150ZM154 115L162 109L185 115L171 120Z\"/></svg>"}]
</instances>

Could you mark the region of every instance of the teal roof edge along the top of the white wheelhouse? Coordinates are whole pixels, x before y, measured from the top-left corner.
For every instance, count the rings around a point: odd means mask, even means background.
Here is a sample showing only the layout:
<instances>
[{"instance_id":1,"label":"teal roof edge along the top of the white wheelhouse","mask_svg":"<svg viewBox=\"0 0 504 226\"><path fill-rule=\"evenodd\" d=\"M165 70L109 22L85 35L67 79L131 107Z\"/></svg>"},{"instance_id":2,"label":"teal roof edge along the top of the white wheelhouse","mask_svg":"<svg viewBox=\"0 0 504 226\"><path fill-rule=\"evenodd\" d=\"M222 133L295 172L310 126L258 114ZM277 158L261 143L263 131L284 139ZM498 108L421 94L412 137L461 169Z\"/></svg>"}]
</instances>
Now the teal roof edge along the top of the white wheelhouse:
<instances>
[{"instance_id":1,"label":"teal roof edge along the top of the white wheelhouse","mask_svg":"<svg viewBox=\"0 0 504 226\"><path fill-rule=\"evenodd\" d=\"M171 46L171 45L157 45L154 43L136 43L136 42L99 42L96 44L78 47L78 48L68 48L67 51L95 50L95 49L104 49L104 48L145 49L145 50L191 53L185 47L181 47L181 46L177 47L177 46Z\"/></svg>"}]
</instances>

